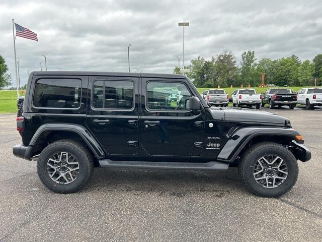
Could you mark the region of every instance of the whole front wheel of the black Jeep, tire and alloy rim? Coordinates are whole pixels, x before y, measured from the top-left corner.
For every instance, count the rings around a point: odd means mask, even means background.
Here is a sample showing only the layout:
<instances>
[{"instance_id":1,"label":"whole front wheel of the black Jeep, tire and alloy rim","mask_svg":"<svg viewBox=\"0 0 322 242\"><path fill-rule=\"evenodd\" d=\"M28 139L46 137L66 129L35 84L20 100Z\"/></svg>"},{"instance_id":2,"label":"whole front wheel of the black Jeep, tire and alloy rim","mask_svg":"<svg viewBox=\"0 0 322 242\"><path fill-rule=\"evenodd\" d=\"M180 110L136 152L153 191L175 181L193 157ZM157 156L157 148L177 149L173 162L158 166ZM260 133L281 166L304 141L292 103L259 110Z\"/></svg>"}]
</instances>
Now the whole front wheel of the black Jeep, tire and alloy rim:
<instances>
[{"instance_id":1,"label":"whole front wheel of the black Jeep, tire and alloy rim","mask_svg":"<svg viewBox=\"0 0 322 242\"><path fill-rule=\"evenodd\" d=\"M261 197L279 197L296 183L298 165L292 152L284 146L262 142L245 152L238 172L251 193Z\"/></svg>"}]
</instances>

